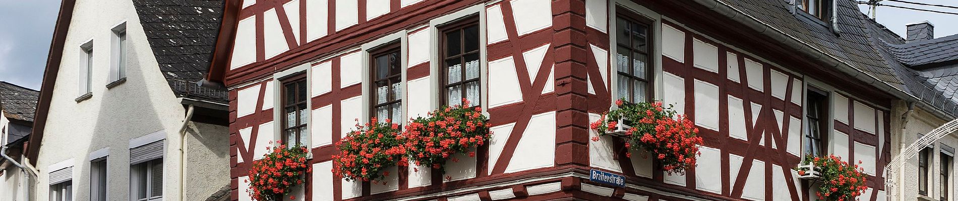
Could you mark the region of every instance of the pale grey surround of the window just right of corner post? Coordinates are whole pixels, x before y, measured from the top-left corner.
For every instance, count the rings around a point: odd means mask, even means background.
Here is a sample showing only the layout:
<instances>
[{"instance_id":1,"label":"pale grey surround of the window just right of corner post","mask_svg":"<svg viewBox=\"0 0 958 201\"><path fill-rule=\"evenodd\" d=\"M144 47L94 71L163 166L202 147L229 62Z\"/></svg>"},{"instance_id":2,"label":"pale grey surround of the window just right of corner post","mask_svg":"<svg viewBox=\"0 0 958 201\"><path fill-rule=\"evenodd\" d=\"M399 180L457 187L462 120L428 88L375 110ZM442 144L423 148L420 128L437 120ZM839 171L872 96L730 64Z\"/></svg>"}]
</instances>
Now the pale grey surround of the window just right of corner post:
<instances>
[{"instance_id":1,"label":"pale grey surround of the window just right of corner post","mask_svg":"<svg viewBox=\"0 0 958 201\"><path fill-rule=\"evenodd\" d=\"M663 88L664 85L662 83L663 82L662 81L662 72L663 72L662 71L662 18L663 17L658 12L655 12L653 10L650 10L649 8L640 6L636 4L635 2L628 1L628 0L614 0L614 1L609 1L609 5L607 7L608 15L605 16L605 20L607 22L606 26L608 26L608 44L607 45L609 47L608 48L609 63L608 63L608 66L606 66L606 68L608 68L607 70L608 73L605 75L605 76L608 76L608 83L605 83L605 85L608 86L608 89L609 89L608 92L609 92L609 95L611 96L609 105L615 106L615 100L619 99L619 94L618 94L619 89L617 84L619 83L619 78L618 76L614 76L618 73L618 69L613 67L614 65L618 64L618 59L619 59L618 56L615 56L618 54L618 50L615 48L618 40L616 40L615 34L614 34L616 31L614 20L618 16L617 8L623 8L623 9L629 10L633 14L637 14L652 20L652 23L650 25L650 30L649 30L652 35L652 38L651 38L652 50L650 50L650 53L649 53L649 56L652 62L652 73L651 73L652 77L650 77L651 82L649 84L652 85L652 89L654 89L652 91L653 93L652 99L662 100L663 98L665 98L665 96L662 94L664 92L664 88ZM690 34L690 33L686 32L686 34Z\"/></svg>"}]
</instances>

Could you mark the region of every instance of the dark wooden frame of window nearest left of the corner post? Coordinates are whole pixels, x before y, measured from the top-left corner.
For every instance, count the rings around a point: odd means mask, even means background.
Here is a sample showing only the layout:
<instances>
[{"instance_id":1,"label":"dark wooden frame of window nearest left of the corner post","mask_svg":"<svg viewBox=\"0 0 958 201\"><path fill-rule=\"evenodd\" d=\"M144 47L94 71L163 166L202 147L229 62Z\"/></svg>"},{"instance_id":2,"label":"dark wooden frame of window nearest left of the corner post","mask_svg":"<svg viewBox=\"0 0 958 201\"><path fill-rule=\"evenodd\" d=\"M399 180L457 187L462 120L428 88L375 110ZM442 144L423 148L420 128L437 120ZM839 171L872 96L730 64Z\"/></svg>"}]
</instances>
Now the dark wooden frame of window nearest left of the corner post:
<instances>
[{"instance_id":1,"label":"dark wooden frame of window nearest left of the corner post","mask_svg":"<svg viewBox=\"0 0 958 201\"><path fill-rule=\"evenodd\" d=\"M437 50L439 51L439 52L438 52L438 53L439 53L439 54L438 54L438 55L439 55L439 58L438 58L438 59L439 59L439 61L438 61L439 65L437 66L437 68L439 69L439 73L438 73L438 75L439 75L439 91L440 91L440 93L439 93L439 104L440 104L441 106L442 106L442 105L449 105L449 88L451 88L451 87L463 86L463 87L462 87L462 94L461 94L460 97L461 97L461 98L466 98L467 95L468 95L468 90L465 88L465 86L466 86L467 83L471 83L471 82L477 82L477 83L479 83L479 100L478 100L479 102L478 102L478 103L474 103L474 104L475 104L474 107L482 107L482 105L483 105L483 103L484 103L484 101L483 101L483 94L485 94L485 93L484 93L484 91L483 91L483 88L484 88L484 87L483 87L483 79L484 79L484 76L483 76L484 70L483 70L483 68L484 68L485 65L483 64L484 62L483 62L483 59L482 59L482 57L483 57L483 51L484 51L484 50L483 50L484 42L483 42L483 39L482 39L482 38L483 38L484 35L483 35L483 30L482 30L482 25L481 25L481 23L480 23L481 20L480 20L480 16L479 16L479 15L480 15L479 13L468 14L467 16L463 17L462 19L459 19L459 20L456 20L456 21L452 21L452 22L448 22L448 23L446 23L446 24L439 25L439 26L436 27L437 33L438 33L438 34L437 34L437 39L438 39L437 44L439 45L439 46L437 47ZM466 47L466 46L465 46L465 45L466 45L466 40L465 40L465 37L466 37L466 36L465 36L465 34L460 34L460 41L459 41L459 42L460 42L460 52L459 52L459 54L456 54L456 55L453 55L453 56L446 55L447 52L448 52L448 51L447 51L448 43L446 43L446 37L445 37L446 31L465 30L466 28L472 27L472 26L476 26L476 30L478 31L478 32L477 32L477 34L478 34L477 36L478 36L479 38L478 38L478 40L476 40L476 42L478 43L478 44L477 44L477 49L476 49L476 50L473 50L473 51L469 51L469 52L462 52L463 50L466 49L466 48L465 48L465 47ZM465 68L466 68L466 59L465 59L465 57L466 57L467 54L471 54L471 53L476 53L476 54L478 54L478 56L479 56L479 58L478 58L478 59L479 59L479 76L476 77L476 78L472 78L472 79L465 80L465 79L466 79L466 74L467 74L467 70L465 69ZM448 80L448 78L449 78L449 77L448 77L449 68L447 68L446 60L451 59L451 58L454 58L454 57L460 58L460 63L463 65L463 67L462 67L462 68L463 68L463 70L462 70L463 72L462 72L461 75L460 75L460 76L461 76L461 79L463 79L463 80L460 80L460 81L457 82L457 83L449 84L449 83L448 83L448 81L449 81L449 80Z\"/></svg>"}]
</instances>

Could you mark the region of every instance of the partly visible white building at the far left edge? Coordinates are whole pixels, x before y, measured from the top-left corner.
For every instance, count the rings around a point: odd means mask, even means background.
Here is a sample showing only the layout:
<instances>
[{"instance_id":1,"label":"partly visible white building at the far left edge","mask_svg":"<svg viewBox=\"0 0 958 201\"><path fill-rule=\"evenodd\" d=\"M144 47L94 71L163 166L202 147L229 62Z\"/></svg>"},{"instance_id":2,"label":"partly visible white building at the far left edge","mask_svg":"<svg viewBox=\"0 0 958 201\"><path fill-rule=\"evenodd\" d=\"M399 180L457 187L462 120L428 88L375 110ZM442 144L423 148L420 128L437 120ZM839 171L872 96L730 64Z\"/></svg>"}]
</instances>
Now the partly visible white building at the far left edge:
<instances>
[{"instance_id":1,"label":"partly visible white building at the far left edge","mask_svg":"<svg viewBox=\"0 0 958 201\"><path fill-rule=\"evenodd\" d=\"M0 201L26 201L31 188L25 147L34 127L34 111L39 91L0 81L0 146L13 161L0 158Z\"/></svg>"}]
</instances>

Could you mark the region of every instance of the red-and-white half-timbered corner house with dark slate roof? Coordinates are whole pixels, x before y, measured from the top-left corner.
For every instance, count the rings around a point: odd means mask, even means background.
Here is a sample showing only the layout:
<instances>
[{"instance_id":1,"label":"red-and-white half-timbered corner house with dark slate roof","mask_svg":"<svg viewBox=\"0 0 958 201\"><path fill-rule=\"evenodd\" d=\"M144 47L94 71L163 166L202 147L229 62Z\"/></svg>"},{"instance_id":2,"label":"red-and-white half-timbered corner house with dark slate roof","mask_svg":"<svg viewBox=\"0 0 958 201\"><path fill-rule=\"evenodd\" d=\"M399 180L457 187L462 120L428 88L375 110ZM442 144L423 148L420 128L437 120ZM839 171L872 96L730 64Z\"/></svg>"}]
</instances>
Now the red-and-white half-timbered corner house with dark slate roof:
<instances>
[{"instance_id":1,"label":"red-and-white half-timbered corner house with dark slate roof","mask_svg":"<svg viewBox=\"0 0 958 201\"><path fill-rule=\"evenodd\" d=\"M880 54L869 33L882 30L855 1L789 2L228 0L223 27L235 29L204 83L230 89L233 200L250 200L250 161L276 140L311 149L314 171L293 194L314 201L814 200L791 170L807 154L861 161L861 200L885 200L901 105L939 121L955 112L916 97L926 85ZM406 120L460 98L490 117L476 157L445 175L394 168L385 184L332 175L333 144L356 119ZM694 119L697 168L664 174L612 137L589 140L619 98ZM627 187L591 182L590 169Z\"/></svg>"}]
</instances>

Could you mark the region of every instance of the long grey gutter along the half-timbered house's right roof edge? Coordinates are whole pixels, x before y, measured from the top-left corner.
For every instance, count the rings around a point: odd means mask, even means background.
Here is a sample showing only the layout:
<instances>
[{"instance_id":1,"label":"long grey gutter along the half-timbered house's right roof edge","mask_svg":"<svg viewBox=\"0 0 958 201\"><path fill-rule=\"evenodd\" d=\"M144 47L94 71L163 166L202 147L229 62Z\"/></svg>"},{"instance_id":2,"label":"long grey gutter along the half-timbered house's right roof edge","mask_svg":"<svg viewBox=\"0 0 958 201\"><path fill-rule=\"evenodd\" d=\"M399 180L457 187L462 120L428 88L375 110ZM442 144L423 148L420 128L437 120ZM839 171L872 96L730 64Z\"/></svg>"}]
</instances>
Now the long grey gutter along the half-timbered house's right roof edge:
<instances>
[{"instance_id":1,"label":"long grey gutter along the half-timbered house's right roof edge","mask_svg":"<svg viewBox=\"0 0 958 201\"><path fill-rule=\"evenodd\" d=\"M939 118L943 119L955 119L955 116L949 114L941 109L935 108L924 102L924 100L919 99L918 97L908 93L904 90L893 87L892 85L878 80L875 76L868 74L864 71L855 69L852 65L845 63L842 60L839 60L832 54L828 54L825 51L818 50L815 47L812 47L808 43L799 40L798 38L788 35L782 30L778 30L768 24L765 24L755 16L749 15L741 10L733 8L732 6L722 2L720 0L693 0L699 5L718 12L721 15L728 17L731 20L741 23L745 27L756 30L759 33L764 34L765 36L771 37L776 42L785 45L794 50L798 50L805 54L805 56L810 59L817 60L827 67L833 67L849 76L854 77L858 81L861 81L867 85L877 88L878 90L892 94L893 96L900 98L908 103L914 103L915 106L923 109L924 111L931 111L932 114Z\"/></svg>"}]
</instances>

